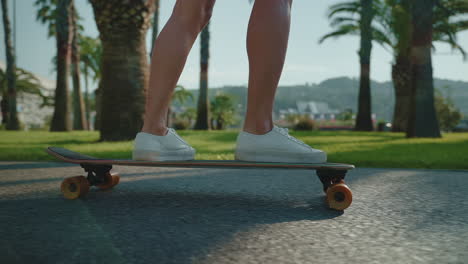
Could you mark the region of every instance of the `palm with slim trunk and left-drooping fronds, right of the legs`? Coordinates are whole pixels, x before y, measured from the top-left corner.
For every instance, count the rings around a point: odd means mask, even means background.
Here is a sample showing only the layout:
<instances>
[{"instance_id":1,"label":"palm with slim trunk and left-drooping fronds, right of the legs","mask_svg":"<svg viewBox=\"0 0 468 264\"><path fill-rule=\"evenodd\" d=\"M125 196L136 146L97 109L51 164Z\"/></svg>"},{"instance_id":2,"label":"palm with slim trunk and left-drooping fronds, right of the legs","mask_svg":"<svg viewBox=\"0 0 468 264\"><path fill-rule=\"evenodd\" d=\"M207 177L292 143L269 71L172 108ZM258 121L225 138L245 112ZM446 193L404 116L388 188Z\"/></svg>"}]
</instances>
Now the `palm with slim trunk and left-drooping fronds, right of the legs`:
<instances>
[{"instance_id":1,"label":"palm with slim trunk and left-drooping fronds, right of the legs","mask_svg":"<svg viewBox=\"0 0 468 264\"><path fill-rule=\"evenodd\" d=\"M346 34L359 34L361 44L359 49L360 82L358 114L355 130L372 131L371 117L371 93L370 93L370 57L372 51L372 20L375 16L375 3L373 0L359 0L332 5L329 9L328 18L331 25L337 29L326 34L320 39L320 43L331 37ZM341 13L359 14L360 18L342 17Z\"/></svg>"}]
</instances>

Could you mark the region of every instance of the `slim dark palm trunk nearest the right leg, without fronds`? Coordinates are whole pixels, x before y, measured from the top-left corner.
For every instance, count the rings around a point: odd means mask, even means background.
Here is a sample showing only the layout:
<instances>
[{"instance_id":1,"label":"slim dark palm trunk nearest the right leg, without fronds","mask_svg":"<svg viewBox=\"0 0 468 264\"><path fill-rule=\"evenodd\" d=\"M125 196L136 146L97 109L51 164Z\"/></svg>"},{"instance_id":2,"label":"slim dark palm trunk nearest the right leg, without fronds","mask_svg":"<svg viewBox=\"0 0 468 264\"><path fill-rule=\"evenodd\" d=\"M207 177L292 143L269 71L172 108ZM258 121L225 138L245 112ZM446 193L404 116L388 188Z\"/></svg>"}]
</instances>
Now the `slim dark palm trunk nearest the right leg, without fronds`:
<instances>
[{"instance_id":1,"label":"slim dark palm trunk nearest the right leg, without fronds","mask_svg":"<svg viewBox=\"0 0 468 264\"><path fill-rule=\"evenodd\" d=\"M374 17L372 0L361 0L361 48L359 60L361 75L359 83L358 114L356 118L357 131L372 131L371 92L370 92L370 57L372 51L371 23Z\"/></svg>"}]
</instances>

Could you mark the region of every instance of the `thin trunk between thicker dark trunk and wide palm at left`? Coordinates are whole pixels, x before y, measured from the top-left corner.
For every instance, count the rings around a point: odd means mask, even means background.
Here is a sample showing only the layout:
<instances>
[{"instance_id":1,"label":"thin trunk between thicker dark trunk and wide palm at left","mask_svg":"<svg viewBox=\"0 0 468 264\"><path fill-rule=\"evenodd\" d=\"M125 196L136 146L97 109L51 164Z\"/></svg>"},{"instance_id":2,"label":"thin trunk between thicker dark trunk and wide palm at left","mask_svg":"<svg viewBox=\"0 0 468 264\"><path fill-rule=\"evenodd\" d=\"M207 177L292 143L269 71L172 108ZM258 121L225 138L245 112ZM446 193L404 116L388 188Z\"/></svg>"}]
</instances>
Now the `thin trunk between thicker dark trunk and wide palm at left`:
<instances>
[{"instance_id":1,"label":"thin trunk between thicker dark trunk and wide palm at left","mask_svg":"<svg viewBox=\"0 0 468 264\"><path fill-rule=\"evenodd\" d=\"M78 44L78 28L76 9L72 4L71 12L72 21L72 56L71 56L71 70L73 79L73 129L86 130L86 117L84 113L83 94L81 93L80 84L80 47Z\"/></svg>"}]
</instances>

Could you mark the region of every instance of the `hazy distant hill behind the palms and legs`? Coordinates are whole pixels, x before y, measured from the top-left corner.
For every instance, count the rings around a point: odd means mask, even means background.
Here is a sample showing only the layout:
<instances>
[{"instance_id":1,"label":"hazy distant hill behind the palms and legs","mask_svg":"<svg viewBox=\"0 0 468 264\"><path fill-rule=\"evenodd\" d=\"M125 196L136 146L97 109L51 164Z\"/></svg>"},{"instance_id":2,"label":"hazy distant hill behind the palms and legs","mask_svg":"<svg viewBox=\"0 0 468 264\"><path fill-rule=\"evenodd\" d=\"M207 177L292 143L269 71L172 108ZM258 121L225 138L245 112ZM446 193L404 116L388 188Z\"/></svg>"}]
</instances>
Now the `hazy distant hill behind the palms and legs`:
<instances>
[{"instance_id":1,"label":"hazy distant hill behind the palms and legs","mask_svg":"<svg viewBox=\"0 0 468 264\"><path fill-rule=\"evenodd\" d=\"M445 96L454 101L457 108L468 116L468 82L435 79L434 86ZM194 98L198 98L198 90L191 90ZM357 98L359 80L348 77L338 77L325 80L319 84L303 84L293 86L280 86L276 94L275 111L287 108L296 108L296 101L321 101L329 104L330 108L340 111L352 109L357 111ZM245 111L247 103L247 88L242 86L225 86L211 88L210 97L218 93L232 95L240 112ZM390 121L393 115L395 95L392 82L371 82L372 112L377 119ZM191 107L195 102L189 103Z\"/></svg>"}]
</instances>

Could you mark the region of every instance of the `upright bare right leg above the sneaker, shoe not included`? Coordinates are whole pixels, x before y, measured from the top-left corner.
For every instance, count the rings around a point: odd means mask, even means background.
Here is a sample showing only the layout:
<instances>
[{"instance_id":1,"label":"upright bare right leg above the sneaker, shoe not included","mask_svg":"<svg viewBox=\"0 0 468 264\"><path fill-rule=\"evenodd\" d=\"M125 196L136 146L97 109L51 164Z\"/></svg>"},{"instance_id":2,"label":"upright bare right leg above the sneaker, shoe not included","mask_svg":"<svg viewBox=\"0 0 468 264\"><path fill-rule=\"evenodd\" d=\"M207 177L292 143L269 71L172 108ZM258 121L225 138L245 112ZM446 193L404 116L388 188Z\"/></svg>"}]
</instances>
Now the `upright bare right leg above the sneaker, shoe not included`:
<instances>
[{"instance_id":1,"label":"upright bare right leg above the sneaker, shoe not included","mask_svg":"<svg viewBox=\"0 0 468 264\"><path fill-rule=\"evenodd\" d=\"M273 128L273 101L283 70L292 0L256 0L247 33L249 91L244 131L265 134Z\"/></svg>"}]
</instances>

